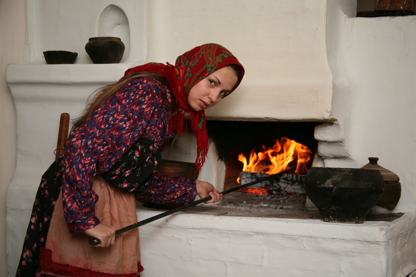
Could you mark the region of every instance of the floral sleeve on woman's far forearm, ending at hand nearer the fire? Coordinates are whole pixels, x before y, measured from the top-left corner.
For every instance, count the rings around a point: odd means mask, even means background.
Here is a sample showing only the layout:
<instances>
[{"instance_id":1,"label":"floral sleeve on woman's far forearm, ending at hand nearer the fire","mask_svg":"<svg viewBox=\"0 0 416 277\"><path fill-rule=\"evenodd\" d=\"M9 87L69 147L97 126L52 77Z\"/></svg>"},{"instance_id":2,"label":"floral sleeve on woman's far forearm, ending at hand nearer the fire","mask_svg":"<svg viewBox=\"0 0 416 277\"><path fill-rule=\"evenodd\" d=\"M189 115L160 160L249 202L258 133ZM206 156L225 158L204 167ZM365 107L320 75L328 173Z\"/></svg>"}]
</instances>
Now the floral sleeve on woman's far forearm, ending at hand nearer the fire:
<instances>
[{"instance_id":1,"label":"floral sleeve on woman's far forearm, ending at hand nearer the fire","mask_svg":"<svg viewBox=\"0 0 416 277\"><path fill-rule=\"evenodd\" d=\"M140 202L157 204L191 203L196 198L196 182L185 176L168 177L157 171L146 192L135 197Z\"/></svg>"}]
</instances>

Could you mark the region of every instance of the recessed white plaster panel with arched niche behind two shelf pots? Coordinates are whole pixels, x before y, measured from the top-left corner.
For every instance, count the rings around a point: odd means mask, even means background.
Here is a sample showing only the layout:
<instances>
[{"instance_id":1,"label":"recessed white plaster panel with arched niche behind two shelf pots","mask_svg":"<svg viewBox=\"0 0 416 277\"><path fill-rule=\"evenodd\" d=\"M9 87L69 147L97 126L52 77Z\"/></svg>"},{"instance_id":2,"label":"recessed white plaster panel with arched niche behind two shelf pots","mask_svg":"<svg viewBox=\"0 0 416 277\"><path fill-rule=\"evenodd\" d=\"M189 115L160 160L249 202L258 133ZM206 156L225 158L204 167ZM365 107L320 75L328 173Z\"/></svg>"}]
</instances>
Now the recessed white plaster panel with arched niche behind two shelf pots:
<instances>
[{"instance_id":1,"label":"recessed white plaster panel with arched niche behind two shelf pots","mask_svg":"<svg viewBox=\"0 0 416 277\"><path fill-rule=\"evenodd\" d=\"M45 64L43 51L77 52L75 64L92 64L85 45L90 37L120 37L121 62L146 59L145 0L28 0L30 62Z\"/></svg>"}]
</instances>

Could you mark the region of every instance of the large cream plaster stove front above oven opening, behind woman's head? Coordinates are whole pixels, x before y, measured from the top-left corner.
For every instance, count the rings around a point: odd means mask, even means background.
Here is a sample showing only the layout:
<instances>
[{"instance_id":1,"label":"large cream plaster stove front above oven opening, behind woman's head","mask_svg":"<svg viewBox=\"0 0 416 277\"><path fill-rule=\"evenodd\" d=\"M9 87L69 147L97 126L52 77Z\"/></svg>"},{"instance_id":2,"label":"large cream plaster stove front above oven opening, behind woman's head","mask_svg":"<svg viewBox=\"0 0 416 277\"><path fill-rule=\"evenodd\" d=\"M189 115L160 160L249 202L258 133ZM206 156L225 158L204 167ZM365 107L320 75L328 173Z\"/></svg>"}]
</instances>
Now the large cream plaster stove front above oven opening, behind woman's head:
<instances>
[{"instance_id":1,"label":"large cream plaster stove front above oven opening, behind woman's head","mask_svg":"<svg viewBox=\"0 0 416 277\"><path fill-rule=\"evenodd\" d=\"M244 65L243 84L207 118L332 119L326 1L149 1L148 11L148 61L216 42Z\"/></svg>"}]
</instances>

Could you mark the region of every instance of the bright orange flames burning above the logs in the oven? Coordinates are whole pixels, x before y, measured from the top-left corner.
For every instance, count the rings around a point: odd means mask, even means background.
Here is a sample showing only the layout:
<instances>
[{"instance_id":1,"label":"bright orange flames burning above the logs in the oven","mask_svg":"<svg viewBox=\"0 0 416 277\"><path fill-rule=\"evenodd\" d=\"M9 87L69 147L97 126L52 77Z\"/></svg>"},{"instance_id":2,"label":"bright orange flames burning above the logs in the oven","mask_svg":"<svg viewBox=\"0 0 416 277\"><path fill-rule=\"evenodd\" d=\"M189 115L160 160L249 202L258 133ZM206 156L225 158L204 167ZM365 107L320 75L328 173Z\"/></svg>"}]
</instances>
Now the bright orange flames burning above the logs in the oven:
<instances>
[{"instance_id":1,"label":"bright orange flames burning above the logs in the oven","mask_svg":"<svg viewBox=\"0 0 416 277\"><path fill-rule=\"evenodd\" d=\"M295 173L301 174L307 172L306 165L312 156L312 151L306 146L284 137L280 142L276 140L272 148L266 149L262 145L262 150L256 153L253 149L248 161L243 153L238 156L238 161L243 163L243 171L276 174L296 168Z\"/></svg>"}]
</instances>

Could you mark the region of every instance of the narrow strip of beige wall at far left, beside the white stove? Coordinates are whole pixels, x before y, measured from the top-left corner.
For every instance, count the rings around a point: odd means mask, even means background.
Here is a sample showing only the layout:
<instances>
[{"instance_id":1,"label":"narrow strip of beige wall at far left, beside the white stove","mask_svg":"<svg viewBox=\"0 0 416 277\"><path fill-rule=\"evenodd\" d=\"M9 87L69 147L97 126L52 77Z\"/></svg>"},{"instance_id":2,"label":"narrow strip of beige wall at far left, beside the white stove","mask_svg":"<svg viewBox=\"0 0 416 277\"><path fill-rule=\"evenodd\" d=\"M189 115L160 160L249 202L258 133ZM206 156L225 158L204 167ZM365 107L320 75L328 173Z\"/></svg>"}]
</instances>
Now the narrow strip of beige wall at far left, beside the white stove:
<instances>
[{"instance_id":1,"label":"narrow strip of beige wall at far left, beside the white stove","mask_svg":"<svg viewBox=\"0 0 416 277\"><path fill-rule=\"evenodd\" d=\"M6 190L16 166L16 115L5 67L28 61L26 1L0 1L0 34L0 276L7 276Z\"/></svg>"}]
</instances>

